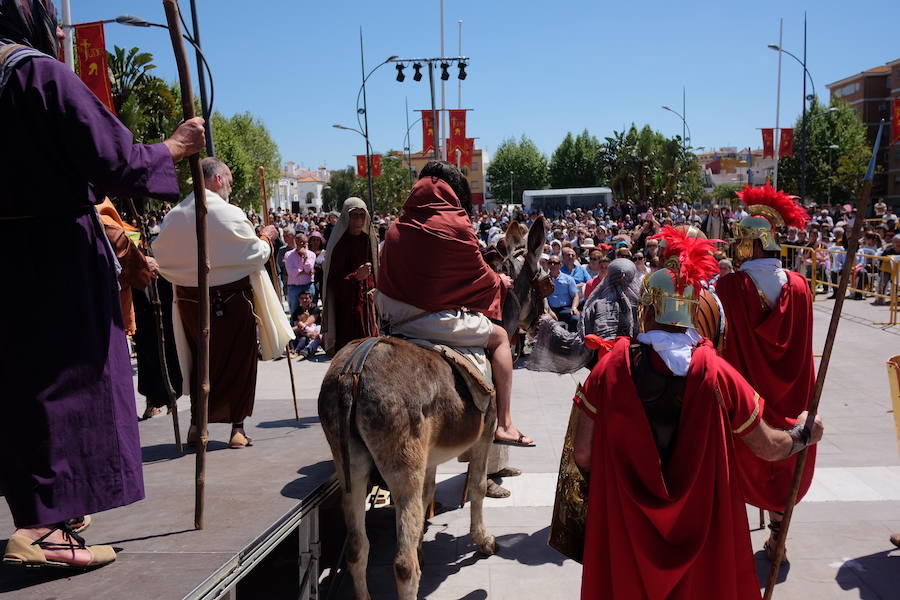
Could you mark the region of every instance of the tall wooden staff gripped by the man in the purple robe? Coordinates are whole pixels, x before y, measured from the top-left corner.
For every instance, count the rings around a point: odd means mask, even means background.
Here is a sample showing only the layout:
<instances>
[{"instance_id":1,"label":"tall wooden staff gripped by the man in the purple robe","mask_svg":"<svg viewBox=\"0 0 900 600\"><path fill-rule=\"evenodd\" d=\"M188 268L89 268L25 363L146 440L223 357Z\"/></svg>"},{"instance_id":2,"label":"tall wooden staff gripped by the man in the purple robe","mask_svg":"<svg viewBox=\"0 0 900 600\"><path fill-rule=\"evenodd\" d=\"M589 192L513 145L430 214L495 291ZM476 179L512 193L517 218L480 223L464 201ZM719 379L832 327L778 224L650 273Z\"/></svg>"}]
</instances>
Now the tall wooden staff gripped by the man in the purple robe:
<instances>
[{"instance_id":1,"label":"tall wooden staff gripped by the man in the purple robe","mask_svg":"<svg viewBox=\"0 0 900 600\"><path fill-rule=\"evenodd\" d=\"M191 89L191 71L184 51L184 40L181 37L178 0L163 0L166 11L166 22L169 25L169 37L172 38L172 50L178 64L178 81L181 84L181 109L184 120L193 119L194 94ZM209 123L206 124L210 126ZM194 487L194 528L203 529L204 491L206 488L206 445L209 434L206 430L209 421L209 259L206 254L206 189L203 186L203 172L200 170L200 157L196 154L189 157L191 177L194 184L194 210L197 227L197 321L200 339L197 340L197 354L194 365L197 370L195 397L197 399L197 429L200 441L197 444L197 467ZM190 373L185 374L190 377Z\"/></svg>"}]
</instances>

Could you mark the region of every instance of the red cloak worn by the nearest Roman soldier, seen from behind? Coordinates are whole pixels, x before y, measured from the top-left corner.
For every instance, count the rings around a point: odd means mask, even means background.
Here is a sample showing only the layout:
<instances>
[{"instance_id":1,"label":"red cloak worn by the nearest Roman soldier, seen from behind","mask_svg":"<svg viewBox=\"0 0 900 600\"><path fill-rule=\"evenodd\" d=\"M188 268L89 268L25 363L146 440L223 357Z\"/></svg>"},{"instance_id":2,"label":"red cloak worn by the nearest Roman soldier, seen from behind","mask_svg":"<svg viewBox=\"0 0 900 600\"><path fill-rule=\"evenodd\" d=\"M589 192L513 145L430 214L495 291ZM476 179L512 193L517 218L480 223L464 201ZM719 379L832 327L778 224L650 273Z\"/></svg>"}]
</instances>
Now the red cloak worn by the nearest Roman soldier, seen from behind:
<instances>
[{"instance_id":1,"label":"red cloak worn by the nearest Roman soldier, seen from behind","mask_svg":"<svg viewBox=\"0 0 900 600\"><path fill-rule=\"evenodd\" d=\"M759 600L733 435L753 431L762 399L704 340L664 471L629 343L617 340L575 398L594 420L582 599Z\"/></svg>"}]
</instances>

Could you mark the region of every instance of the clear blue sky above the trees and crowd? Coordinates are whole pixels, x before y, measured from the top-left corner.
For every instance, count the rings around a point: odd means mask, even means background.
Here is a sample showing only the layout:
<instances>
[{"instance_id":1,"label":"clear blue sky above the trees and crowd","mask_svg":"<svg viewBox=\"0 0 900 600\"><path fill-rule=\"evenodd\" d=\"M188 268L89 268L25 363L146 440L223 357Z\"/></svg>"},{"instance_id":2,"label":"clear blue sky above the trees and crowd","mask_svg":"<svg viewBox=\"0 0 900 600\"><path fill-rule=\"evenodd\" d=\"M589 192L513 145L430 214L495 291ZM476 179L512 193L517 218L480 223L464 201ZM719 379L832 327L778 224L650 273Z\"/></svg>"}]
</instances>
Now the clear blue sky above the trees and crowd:
<instances>
[{"instance_id":1,"label":"clear blue sky above the trees and crowd","mask_svg":"<svg viewBox=\"0 0 900 600\"><path fill-rule=\"evenodd\" d=\"M189 2L182 0L185 10ZM152 0L71 0L75 22L131 13L165 22ZM438 0L319 2L197 0L204 52L213 69L216 109L251 111L268 126L284 160L307 167L342 168L364 152L358 135L333 129L356 126L360 83L359 27L366 67L391 55L438 56ZM445 2L447 55L456 55L463 20L463 54L471 57L463 82L468 135L493 153L505 138L523 133L548 156L567 131L587 128L598 137L635 122L667 135L681 121L661 105L681 110L693 145L758 147L758 127L775 123L778 41L802 57L803 11L808 10L808 68L820 97L825 85L900 58L900 2L837 0L793 2ZM174 79L164 31L117 24L107 46L153 52L157 73ZM429 106L428 80L404 83L385 65L369 79L369 132L377 152L403 147L404 100ZM801 110L802 68L785 56L781 119ZM438 80L439 81L439 80ZM456 108L456 69L447 82L447 107ZM440 86L437 86L440 102ZM410 117L410 122L416 116ZM419 148L413 128L413 148Z\"/></svg>"}]
</instances>

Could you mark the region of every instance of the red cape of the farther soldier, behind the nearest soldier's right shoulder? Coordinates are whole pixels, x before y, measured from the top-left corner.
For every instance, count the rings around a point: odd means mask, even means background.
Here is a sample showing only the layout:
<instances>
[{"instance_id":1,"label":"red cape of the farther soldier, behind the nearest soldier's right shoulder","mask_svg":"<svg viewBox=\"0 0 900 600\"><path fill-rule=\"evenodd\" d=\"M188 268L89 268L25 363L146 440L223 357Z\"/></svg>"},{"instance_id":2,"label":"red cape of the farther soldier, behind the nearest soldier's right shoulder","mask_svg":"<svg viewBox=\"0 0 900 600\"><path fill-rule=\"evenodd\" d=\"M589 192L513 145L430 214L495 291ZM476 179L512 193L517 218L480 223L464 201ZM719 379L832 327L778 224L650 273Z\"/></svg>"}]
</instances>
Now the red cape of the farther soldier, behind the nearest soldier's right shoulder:
<instances>
[{"instance_id":1,"label":"red cape of the farther soldier, behind the nearest soldier's right shoulder","mask_svg":"<svg viewBox=\"0 0 900 600\"><path fill-rule=\"evenodd\" d=\"M746 273L726 275L716 284L727 324L722 357L766 399L763 418L776 429L790 429L797 415L809 408L816 383L809 284L797 273L787 275L771 310L763 308L756 284ZM738 447L737 457L747 503L783 511L797 457L767 462L744 447ZM812 446L798 501L809 490L815 466L816 446Z\"/></svg>"}]
</instances>

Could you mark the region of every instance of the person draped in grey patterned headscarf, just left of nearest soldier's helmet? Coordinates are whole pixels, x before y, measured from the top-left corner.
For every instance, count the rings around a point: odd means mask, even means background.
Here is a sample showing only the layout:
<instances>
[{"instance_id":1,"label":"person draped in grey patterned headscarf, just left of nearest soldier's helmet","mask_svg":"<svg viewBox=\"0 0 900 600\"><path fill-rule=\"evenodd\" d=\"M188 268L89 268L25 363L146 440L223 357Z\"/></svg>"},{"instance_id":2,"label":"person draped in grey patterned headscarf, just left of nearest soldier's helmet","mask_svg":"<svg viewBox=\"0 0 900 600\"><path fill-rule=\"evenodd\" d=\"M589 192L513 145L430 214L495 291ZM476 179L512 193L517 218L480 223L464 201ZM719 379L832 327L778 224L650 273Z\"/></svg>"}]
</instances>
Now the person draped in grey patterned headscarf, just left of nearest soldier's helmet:
<instances>
[{"instance_id":1,"label":"person draped in grey patterned headscarf, just left of nearest soldier's helmet","mask_svg":"<svg viewBox=\"0 0 900 600\"><path fill-rule=\"evenodd\" d=\"M527 367L574 373L594 361L595 351L585 344L587 336L604 340L636 336L639 289L640 277L632 261L617 258L609 263L606 277L584 303L577 331L568 331L564 323L549 316L541 319Z\"/></svg>"}]
</instances>

